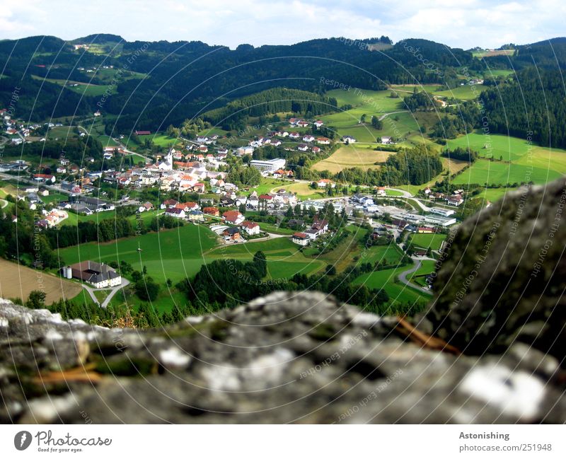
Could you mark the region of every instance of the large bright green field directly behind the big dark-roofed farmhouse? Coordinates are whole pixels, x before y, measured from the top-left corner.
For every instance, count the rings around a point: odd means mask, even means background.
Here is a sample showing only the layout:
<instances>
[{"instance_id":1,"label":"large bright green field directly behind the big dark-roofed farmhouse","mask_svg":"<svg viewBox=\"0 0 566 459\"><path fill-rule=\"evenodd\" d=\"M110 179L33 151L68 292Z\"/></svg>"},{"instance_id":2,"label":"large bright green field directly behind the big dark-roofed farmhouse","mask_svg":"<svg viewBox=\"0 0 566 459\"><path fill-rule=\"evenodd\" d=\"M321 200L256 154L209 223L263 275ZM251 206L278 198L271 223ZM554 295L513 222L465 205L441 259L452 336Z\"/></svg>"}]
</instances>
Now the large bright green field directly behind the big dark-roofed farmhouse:
<instances>
[{"instance_id":1,"label":"large bright green field directly behind the big dark-roofed farmhouse","mask_svg":"<svg viewBox=\"0 0 566 459\"><path fill-rule=\"evenodd\" d=\"M68 264L83 260L120 262L134 269L147 267L149 276L159 283L194 276L205 260L202 252L216 245L216 235L204 226L185 225L173 230L114 240L109 243L87 243L59 250ZM142 248L141 252L137 249Z\"/></svg>"}]
</instances>

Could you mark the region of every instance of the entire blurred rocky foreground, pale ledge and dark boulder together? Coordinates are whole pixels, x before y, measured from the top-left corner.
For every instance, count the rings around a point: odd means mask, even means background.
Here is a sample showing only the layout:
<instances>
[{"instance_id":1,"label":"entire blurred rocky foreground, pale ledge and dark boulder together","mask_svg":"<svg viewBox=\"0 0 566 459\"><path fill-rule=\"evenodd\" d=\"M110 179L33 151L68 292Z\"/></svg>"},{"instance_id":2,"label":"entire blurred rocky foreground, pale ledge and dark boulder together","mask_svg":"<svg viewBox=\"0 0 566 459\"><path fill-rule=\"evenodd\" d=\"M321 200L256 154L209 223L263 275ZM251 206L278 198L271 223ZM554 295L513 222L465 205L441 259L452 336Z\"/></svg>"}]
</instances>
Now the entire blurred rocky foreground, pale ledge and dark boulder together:
<instances>
[{"instance_id":1,"label":"entire blurred rocky foreground, pale ledge and dark boulder together","mask_svg":"<svg viewBox=\"0 0 566 459\"><path fill-rule=\"evenodd\" d=\"M565 200L464 222L416 332L316 292L152 330L0 301L0 422L564 423Z\"/></svg>"}]
</instances>

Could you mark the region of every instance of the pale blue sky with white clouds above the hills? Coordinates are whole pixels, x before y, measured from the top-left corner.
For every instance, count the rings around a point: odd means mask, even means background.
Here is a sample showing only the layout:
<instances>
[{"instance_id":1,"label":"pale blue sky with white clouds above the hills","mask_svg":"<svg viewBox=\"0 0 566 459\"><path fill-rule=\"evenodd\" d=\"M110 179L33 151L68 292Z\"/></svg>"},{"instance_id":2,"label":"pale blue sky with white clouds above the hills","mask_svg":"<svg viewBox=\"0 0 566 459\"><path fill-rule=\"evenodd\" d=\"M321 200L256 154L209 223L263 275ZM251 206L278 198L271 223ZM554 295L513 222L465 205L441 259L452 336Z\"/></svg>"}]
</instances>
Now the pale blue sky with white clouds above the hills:
<instances>
[{"instance_id":1,"label":"pale blue sky with white clouds above the hills","mask_svg":"<svg viewBox=\"0 0 566 459\"><path fill-rule=\"evenodd\" d=\"M0 39L112 33L233 49L388 35L469 49L565 36L564 18L565 0L0 0Z\"/></svg>"}]
</instances>

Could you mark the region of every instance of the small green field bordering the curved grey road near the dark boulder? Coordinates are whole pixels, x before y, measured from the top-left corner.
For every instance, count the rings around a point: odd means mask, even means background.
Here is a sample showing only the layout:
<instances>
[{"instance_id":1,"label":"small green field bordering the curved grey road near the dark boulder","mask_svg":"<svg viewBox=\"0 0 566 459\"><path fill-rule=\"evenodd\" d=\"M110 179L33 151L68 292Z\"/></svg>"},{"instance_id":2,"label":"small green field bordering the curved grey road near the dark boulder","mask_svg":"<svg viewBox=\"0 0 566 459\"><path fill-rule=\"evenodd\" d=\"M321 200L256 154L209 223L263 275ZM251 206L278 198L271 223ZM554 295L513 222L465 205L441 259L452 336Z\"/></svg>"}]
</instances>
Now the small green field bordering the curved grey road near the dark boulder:
<instances>
[{"instance_id":1,"label":"small green field bordering the curved grey road near the dark boulder","mask_svg":"<svg viewBox=\"0 0 566 459\"><path fill-rule=\"evenodd\" d=\"M421 294L415 289L396 283L398 275L409 269L409 267L398 267L394 269L383 269L381 271L369 272L362 274L357 279L354 280L354 284L363 284L368 289L383 289L391 298L391 303L393 305L413 305L417 301L427 301L429 296Z\"/></svg>"}]
</instances>

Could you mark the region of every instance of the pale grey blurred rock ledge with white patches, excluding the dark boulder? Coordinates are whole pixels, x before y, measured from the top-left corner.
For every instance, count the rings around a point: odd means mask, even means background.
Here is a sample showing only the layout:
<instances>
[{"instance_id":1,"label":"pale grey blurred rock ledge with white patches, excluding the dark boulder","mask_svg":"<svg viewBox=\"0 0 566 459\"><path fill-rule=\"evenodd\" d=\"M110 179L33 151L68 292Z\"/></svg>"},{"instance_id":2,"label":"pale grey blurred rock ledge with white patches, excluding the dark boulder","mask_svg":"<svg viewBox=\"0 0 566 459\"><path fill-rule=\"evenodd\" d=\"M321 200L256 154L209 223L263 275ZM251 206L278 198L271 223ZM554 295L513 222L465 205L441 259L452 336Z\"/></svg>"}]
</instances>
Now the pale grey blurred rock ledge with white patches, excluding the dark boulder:
<instances>
[{"instance_id":1,"label":"pale grey blurred rock ledge with white patches, excluding the dark boulder","mask_svg":"<svg viewBox=\"0 0 566 459\"><path fill-rule=\"evenodd\" d=\"M524 344L485 356L422 349L395 318L316 292L141 331L8 302L0 319L0 422L566 421L553 357ZM91 379L76 378L81 364ZM64 383L37 380L54 368Z\"/></svg>"}]
</instances>

